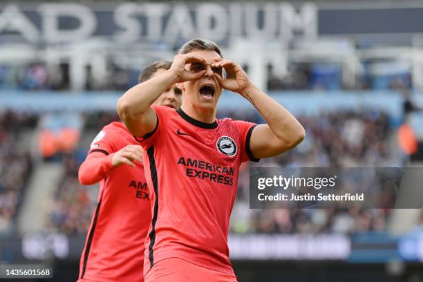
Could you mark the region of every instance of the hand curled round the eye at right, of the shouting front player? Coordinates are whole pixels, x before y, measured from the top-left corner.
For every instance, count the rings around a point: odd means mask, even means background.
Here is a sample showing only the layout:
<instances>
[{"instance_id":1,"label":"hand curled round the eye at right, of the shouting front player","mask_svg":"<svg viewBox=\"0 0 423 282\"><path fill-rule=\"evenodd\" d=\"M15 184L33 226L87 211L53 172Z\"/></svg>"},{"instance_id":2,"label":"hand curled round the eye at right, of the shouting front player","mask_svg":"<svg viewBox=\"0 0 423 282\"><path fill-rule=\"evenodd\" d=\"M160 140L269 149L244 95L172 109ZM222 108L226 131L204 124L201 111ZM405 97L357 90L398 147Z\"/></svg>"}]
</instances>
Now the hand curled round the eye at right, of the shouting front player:
<instances>
[{"instance_id":1,"label":"hand curled round the eye at right, of the shouting front player","mask_svg":"<svg viewBox=\"0 0 423 282\"><path fill-rule=\"evenodd\" d=\"M225 68L226 71L225 78L218 73L214 73L222 88L243 95L245 89L252 86L250 78L241 66L238 66L238 64L235 64L230 59L216 58L215 61L217 62L212 64L212 68Z\"/></svg>"}]
</instances>

